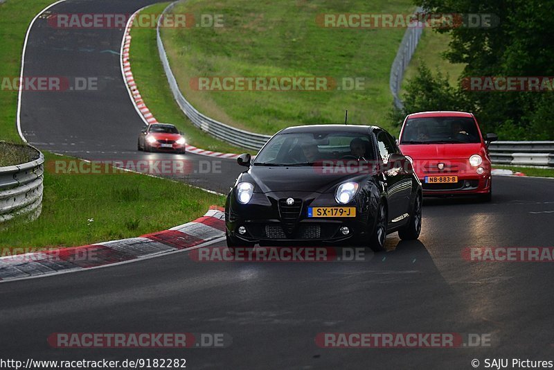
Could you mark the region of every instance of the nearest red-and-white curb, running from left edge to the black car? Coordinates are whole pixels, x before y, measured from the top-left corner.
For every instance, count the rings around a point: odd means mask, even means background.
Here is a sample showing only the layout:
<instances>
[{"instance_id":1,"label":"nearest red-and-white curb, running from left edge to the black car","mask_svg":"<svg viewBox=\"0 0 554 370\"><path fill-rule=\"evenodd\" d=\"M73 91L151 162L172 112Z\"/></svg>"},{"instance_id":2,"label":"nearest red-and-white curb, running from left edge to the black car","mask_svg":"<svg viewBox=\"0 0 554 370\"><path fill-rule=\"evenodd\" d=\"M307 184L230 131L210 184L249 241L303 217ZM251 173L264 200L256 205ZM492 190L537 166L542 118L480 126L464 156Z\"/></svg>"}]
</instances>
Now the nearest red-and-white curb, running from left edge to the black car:
<instances>
[{"instance_id":1,"label":"nearest red-and-white curb, running from left edge to the black car","mask_svg":"<svg viewBox=\"0 0 554 370\"><path fill-rule=\"evenodd\" d=\"M0 258L0 283L90 270L203 247L225 236L224 210L217 206L192 222L139 238L46 250Z\"/></svg>"}]
</instances>

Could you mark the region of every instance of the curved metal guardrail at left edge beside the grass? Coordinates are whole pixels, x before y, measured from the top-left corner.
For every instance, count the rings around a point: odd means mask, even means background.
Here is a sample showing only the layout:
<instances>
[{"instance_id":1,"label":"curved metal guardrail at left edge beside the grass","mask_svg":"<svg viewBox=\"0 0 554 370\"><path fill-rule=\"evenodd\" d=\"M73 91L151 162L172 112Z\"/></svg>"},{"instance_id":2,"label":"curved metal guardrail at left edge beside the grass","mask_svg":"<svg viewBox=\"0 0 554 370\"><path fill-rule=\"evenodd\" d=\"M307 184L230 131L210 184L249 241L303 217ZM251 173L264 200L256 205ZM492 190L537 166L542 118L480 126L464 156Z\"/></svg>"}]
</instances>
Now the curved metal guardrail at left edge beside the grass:
<instances>
[{"instance_id":1,"label":"curved metal guardrail at left edge beside the grass","mask_svg":"<svg viewBox=\"0 0 554 370\"><path fill-rule=\"evenodd\" d=\"M44 155L17 166L0 167L0 222L17 215L36 218L42 211Z\"/></svg>"}]
</instances>

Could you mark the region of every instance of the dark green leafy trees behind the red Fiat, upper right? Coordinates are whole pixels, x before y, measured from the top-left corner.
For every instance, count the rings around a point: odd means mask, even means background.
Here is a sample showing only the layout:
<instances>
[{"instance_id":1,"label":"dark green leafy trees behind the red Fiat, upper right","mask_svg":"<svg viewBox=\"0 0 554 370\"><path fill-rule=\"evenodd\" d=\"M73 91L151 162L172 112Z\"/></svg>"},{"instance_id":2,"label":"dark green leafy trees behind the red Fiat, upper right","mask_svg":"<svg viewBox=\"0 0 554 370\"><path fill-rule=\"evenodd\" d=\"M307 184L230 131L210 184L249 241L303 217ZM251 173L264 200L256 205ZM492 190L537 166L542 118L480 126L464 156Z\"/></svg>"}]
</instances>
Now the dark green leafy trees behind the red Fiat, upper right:
<instances>
[{"instance_id":1,"label":"dark green leafy trees behind the red Fiat, upper right","mask_svg":"<svg viewBox=\"0 0 554 370\"><path fill-rule=\"evenodd\" d=\"M451 35L445 58L452 63L466 64L462 78L554 76L554 48L551 46L554 39L554 1L415 2L431 13L492 15L493 19L498 19L498 24L490 28L436 28L437 32ZM458 84L456 91L458 98L463 96L463 106L471 108L479 116L485 130L499 130L504 134L501 139L554 139L554 91L465 91L461 84ZM416 89L413 93L409 91L410 94L421 94L421 91ZM420 101L417 96L406 96L406 99Z\"/></svg>"}]
</instances>

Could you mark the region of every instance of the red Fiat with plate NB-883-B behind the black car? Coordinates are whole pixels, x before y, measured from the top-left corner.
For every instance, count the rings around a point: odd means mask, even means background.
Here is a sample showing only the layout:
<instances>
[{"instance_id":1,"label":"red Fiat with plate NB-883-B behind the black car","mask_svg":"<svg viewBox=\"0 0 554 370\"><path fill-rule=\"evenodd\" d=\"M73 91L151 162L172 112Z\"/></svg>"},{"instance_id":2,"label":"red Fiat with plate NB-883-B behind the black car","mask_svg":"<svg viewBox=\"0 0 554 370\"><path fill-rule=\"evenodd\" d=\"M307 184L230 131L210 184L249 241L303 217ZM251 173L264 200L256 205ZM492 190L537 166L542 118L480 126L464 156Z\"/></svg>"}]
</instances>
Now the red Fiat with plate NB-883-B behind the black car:
<instances>
[{"instance_id":1,"label":"red Fiat with plate NB-883-B behind the black car","mask_svg":"<svg viewBox=\"0 0 554 370\"><path fill-rule=\"evenodd\" d=\"M398 144L412 162L423 195L477 195L492 198L488 144L472 113L421 112L404 119Z\"/></svg>"}]
</instances>

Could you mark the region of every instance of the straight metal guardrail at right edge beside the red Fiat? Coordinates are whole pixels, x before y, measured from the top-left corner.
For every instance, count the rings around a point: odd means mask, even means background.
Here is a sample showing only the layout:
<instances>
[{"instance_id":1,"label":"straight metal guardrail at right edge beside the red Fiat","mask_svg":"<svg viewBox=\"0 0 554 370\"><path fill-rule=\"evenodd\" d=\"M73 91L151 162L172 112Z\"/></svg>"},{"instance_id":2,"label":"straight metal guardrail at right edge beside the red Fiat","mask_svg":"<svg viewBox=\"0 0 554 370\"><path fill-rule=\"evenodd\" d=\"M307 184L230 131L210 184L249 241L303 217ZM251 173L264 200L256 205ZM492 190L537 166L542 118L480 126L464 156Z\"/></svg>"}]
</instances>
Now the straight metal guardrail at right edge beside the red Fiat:
<instances>
[{"instance_id":1,"label":"straight metal guardrail at right edge beside the red Fiat","mask_svg":"<svg viewBox=\"0 0 554 370\"><path fill-rule=\"evenodd\" d=\"M489 153L493 164L554 168L554 141L495 141Z\"/></svg>"}]
</instances>

